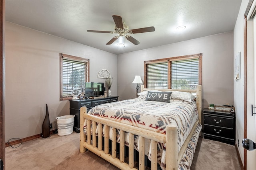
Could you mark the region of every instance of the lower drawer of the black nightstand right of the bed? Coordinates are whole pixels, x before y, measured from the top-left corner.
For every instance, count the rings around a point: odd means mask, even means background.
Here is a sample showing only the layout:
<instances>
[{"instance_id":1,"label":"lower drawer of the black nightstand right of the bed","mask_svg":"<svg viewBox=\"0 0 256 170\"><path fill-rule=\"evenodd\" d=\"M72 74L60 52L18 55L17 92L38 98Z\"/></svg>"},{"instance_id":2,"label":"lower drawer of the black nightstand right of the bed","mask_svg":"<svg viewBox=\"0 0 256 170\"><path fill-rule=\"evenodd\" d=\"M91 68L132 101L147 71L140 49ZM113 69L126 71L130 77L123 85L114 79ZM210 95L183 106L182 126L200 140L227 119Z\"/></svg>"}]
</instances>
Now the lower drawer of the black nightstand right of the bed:
<instances>
[{"instance_id":1,"label":"lower drawer of the black nightstand right of the bed","mask_svg":"<svg viewBox=\"0 0 256 170\"><path fill-rule=\"evenodd\" d=\"M211 125L204 125L204 134L234 139L234 130Z\"/></svg>"}]
</instances>

